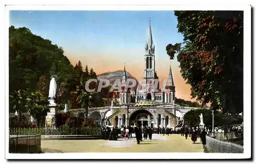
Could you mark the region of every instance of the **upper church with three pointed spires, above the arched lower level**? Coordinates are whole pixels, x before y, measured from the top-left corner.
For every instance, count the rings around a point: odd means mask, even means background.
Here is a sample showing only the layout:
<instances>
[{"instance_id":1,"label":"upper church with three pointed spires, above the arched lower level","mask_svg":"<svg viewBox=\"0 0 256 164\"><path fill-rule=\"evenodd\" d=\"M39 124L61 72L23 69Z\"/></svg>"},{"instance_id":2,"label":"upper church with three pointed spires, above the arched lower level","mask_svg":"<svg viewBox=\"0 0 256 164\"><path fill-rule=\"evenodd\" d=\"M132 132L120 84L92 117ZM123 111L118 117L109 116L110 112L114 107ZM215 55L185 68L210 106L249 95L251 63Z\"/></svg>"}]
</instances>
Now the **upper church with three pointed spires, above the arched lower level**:
<instances>
[{"instance_id":1,"label":"upper church with three pointed spires, above the arched lower level","mask_svg":"<svg viewBox=\"0 0 256 164\"><path fill-rule=\"evenodd\" d=\"M169 68L168 75L168 85L166 90L168 92L163 92L159 90L159 81L156 72L156 63L155 63L155 44L153 42L151 24L148 26L147 39L145 44L145 53L144 53L144 81L145 86L141 89L137 89L136 92L127 90L124 92L124 87L126 84L126 71L124 67L123 76L122 76L122 92L119 95L119 103L130 103L132 97L135 97L135 102L142 101L154 101L158 103L175 103L175 86L172 74L172 68ZM157 81L157 82L156 82ZM158 83L158 84L155 84ZM157 87L155 87L157 86ZM155 87L155 88L154 88ZM157 92L155 92L157 90Z\"/></svg>"}]
</instances>

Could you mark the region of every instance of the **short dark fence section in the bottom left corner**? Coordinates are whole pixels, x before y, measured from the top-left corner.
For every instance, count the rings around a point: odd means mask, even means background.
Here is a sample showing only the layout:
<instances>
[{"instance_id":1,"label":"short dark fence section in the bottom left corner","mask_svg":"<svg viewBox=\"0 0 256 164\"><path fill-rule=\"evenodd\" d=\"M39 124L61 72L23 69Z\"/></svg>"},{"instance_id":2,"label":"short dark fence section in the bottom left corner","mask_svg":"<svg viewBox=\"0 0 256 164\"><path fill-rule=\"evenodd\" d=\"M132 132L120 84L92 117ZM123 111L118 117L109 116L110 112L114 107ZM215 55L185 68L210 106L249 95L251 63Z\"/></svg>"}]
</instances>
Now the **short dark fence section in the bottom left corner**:
<instances>
[{"instance_id":1,"label":"short dark fence section in the bottom left corner","mask_svg":"<svg viewBox=\"0 0 256 164\"><path fill-rule=\"evenodd\" d=\"M9 135L9 153L40 153L41 135Z\"/></svg>"}]
</instances>

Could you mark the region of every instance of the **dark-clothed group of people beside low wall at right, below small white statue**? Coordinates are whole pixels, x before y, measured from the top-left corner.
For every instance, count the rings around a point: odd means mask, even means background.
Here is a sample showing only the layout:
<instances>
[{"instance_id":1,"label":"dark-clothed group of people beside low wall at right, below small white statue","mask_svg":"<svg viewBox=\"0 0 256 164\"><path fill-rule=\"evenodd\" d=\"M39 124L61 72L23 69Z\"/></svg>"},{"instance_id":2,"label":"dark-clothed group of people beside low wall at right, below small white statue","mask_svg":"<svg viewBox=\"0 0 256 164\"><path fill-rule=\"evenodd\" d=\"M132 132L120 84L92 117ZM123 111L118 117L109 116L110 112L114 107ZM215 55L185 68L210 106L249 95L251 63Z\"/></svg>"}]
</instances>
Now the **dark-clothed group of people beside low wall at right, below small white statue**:
<instances>
[{"instance_id":1,"label":"dark-clothed group of people beside low wall at right, below small white statue","mask_svg":"<svg viewBox=\"0 0 256 164\"><path fill-rule=\"evenodd\" d=\"M190 127L188 128L187 125L185 127L181 127L180 129L181 136L185 135L185 139L188 137L191 138L193 141L193 144L196 143L197 139L200 139L200 142L202 143L203 147L206 145L206 135L208 132L205 130L205 128L200 129L199 127Z\"/></svg>"}]
</instances>

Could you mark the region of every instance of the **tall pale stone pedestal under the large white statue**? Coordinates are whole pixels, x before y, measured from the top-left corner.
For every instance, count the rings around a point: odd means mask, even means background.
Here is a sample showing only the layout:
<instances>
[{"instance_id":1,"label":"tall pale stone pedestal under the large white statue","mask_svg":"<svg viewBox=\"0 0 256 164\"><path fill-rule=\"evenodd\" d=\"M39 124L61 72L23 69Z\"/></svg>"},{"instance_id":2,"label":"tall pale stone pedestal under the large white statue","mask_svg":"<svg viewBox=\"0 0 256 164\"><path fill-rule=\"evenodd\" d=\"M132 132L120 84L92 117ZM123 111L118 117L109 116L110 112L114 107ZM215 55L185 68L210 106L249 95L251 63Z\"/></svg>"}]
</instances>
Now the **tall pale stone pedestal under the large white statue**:
<instances>
[{"instance_id":1,"label":"tall pale stone pedestal under the large white statue","mask_svg":"<svg viewBox=\"0 0 256 164\"><path fill-rule=\"evenodd\" d=\"M56 127L55 114L59 112L59 106L50 100L49 108L50 112L47 113L45 127Z\"/></svg>"}]
</instances>

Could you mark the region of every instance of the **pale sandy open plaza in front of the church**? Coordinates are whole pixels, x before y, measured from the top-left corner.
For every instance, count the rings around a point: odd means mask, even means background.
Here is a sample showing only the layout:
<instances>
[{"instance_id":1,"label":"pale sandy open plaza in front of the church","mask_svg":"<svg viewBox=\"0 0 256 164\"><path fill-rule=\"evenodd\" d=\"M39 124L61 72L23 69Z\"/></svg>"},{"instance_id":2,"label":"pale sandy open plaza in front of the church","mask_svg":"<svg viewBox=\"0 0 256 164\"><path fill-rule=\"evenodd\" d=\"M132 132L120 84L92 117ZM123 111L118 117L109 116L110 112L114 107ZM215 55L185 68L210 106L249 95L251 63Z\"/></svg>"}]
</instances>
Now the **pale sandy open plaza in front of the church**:
<instances>
[{"instance_id":1,"label":"pale sandy open plaza in front of the church","mask_svg":"<svg viewBox=\"0 0 256 164\"><path fill-rule=\"evenodd\" d=\"M143 140L137 145L135 138L108 140L42 140L43 153L84 152L204 152L198 140L196 144L178 134L169 136L153 134L152 140Z\"/></svg>"}]
</instances>

